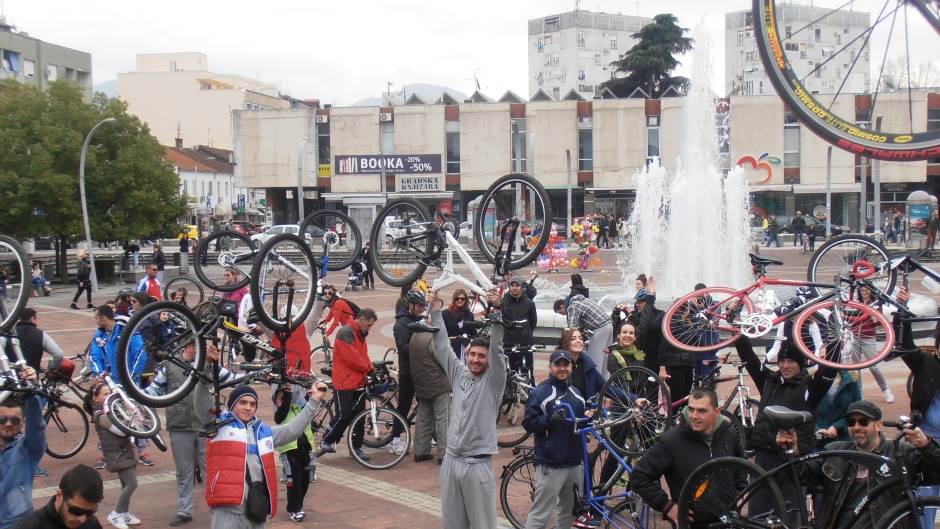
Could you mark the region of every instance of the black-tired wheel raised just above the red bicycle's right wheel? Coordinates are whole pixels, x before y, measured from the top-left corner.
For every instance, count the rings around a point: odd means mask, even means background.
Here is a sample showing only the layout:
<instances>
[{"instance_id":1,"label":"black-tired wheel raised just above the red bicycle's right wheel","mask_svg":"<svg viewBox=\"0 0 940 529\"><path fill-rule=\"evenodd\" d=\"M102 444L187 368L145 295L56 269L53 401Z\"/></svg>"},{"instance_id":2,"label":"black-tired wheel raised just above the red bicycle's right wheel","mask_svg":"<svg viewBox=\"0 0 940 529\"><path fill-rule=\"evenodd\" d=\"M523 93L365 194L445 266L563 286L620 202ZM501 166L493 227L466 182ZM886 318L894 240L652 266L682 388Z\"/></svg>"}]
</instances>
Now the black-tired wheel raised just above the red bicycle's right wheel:
<instances>
[{"instance_id":1,"label":"black-tired wheel raised just above the red bicycle's right wheel","mask_svg":"<svg viewBox=\"0 0 940 529\"><path fill-rule=\"evenodd\" d=\"M806 267L806 280L811 283L834 284L836 276L846 276L857 261L873 264L878 273L869 277L882 292L891 292L897 283L897 270L889 268L888 250L883 244L863 235L840 235L816 249ZM811 287L817 296L832 289Z\"/></svg>"}]
</instances>

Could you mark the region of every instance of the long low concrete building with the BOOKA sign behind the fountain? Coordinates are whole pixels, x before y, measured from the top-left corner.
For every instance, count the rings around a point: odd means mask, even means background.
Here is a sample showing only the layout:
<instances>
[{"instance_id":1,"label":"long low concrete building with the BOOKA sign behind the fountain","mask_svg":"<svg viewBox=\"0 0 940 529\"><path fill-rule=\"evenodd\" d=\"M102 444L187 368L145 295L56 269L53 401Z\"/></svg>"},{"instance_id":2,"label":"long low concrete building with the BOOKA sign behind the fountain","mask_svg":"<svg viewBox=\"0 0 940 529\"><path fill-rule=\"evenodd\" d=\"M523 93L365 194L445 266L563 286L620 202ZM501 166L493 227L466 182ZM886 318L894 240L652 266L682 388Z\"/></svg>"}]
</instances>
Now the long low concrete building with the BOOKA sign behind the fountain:
<instances>
[{"instance_id":1,"label":"long low concrete building with the BOOKA sign behind the fountain","mask_svg":"<svg viewBox=\"0 0 940 529\"><path fill-rule=\"evenodd\" d=\"M940 116L940 94L915 96L915 131L940 127L940 118L930 117ZM906 93L889 93L878 105L888 115L906 102ZM637 171L652 158L676 169L684 104L680 97L519 102L504 96L489 103L237 111L235 176L266 190L278 223L296 221L299 176L305 211L348 210L363 233L386 200L402 194L466 218L473 199L514 170L545 185L556 222L564 223L569 178L574 216L626 217ZM852 115L870 104L869 96L845 95L834 111ZM796 122L778 97L736 96L718 107L726 118L721 126L729 127L723 158L745 167L756 209L793 214L825 203L828 144ZM416 173L410 160L426 165ZM911 191L940 190L936 162L881 162L883 210ZM857 227L860 174L861 160L833 149L834 223Z\"/></svg>"}]
</instances>

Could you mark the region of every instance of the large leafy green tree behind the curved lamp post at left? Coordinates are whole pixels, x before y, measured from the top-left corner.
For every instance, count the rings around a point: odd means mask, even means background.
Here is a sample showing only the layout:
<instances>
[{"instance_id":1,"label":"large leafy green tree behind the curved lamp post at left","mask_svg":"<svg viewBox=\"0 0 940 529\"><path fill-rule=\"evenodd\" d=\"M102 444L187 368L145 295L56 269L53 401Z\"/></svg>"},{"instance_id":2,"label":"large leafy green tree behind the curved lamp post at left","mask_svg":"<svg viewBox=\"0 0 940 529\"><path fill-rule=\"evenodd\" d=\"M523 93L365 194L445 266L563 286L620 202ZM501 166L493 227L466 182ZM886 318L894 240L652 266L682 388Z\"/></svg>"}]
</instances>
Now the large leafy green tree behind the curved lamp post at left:
<instances>
[{"instance_id":1,"label":"large leafy green tree behind the curved lamp post at left","mask_svg":"<svg viewBox=\"0 0 940 529\"><path fill-rule=\"evenodd\" d=\"M85 162L92 238L125 240L169 235L185 211L179 177L146 125L118 99L96 94L91 104L68 82L47 92L0 82L0 232L57 241L59 275L65 244L83 238L78 166L85 135L95 133Z\"/></svg>"}]
</instances>

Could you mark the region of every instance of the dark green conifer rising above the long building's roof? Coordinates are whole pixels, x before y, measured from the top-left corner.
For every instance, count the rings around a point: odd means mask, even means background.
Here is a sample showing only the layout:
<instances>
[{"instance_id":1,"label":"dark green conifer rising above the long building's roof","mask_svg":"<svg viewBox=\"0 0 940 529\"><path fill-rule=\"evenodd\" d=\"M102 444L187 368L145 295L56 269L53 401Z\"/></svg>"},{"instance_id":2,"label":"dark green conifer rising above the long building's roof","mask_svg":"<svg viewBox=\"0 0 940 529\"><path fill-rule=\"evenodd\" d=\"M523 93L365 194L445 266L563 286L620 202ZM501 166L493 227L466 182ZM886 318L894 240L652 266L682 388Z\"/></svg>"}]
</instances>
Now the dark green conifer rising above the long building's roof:
<instances>
[{"instance_id":1,"label":"dark green conifer rising above the long building's roof","mask_svg":"<svg viewBox=\"0 0 940 529\"><path fill-rule=\"evenodd\" d=\"M690 51L693 40L684 36L688 29L677 22L672 14L659 14L639 33L634 33L633 38L639 39L636 46L622 59L610 63L627 75L606 81L601 87L609 88L618 97L627 97L641 88L650 97L657 98L670 86L684 94L689 80L671 74L680 64L675 56Z\"/></svg>"}]
</instances>

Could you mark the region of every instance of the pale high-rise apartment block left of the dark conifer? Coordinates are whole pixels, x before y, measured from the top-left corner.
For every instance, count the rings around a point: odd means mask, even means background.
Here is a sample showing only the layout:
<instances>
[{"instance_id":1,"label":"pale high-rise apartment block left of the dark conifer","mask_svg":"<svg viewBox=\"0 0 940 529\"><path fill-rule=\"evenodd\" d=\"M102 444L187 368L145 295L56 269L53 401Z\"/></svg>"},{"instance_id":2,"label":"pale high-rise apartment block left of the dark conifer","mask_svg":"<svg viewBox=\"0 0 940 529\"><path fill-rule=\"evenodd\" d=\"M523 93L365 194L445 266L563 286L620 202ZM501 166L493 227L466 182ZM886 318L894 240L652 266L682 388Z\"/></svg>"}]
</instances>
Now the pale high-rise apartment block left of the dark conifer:
<instances>
[{"instance_id":1,"label":"pale high-rise apartment block left of the dark conifer","mask_svg":"<svg viewBox=\"0 0 940 529\"><path fill-rule=\"evenodd\" d=\"M538 90L558 101L572 90L585 99L614 77L610 63L636 44L645 17L569 11L529 20L529 96Z\"/></svg>"}]
</instances>

